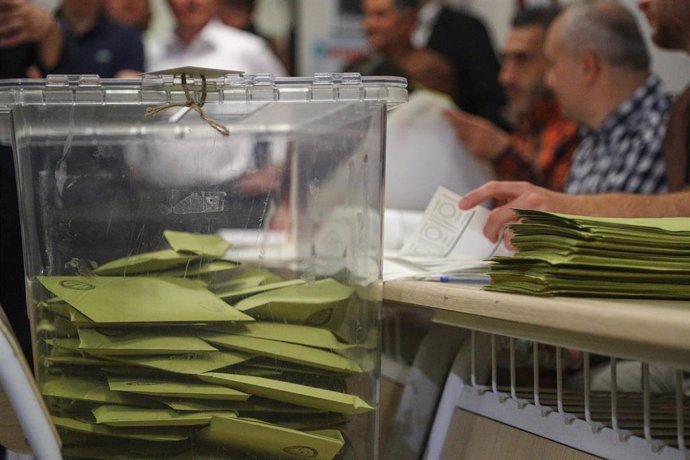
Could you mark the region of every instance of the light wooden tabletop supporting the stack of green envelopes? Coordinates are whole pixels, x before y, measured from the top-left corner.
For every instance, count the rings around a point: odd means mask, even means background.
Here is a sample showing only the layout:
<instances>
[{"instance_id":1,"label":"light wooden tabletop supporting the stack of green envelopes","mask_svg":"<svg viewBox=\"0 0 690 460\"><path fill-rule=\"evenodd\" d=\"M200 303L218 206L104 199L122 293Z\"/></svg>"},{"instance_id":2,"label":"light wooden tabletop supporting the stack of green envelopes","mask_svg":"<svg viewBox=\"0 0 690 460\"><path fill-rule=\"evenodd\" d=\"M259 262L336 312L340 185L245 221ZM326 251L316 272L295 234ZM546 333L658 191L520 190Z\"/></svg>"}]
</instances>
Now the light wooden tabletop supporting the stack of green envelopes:
<instances>
[{"instance_id":1,"label":"light wooden tabletop supporting the stack of green envelopes","mask_svg":"<svg viewBox=\"0 0 690 460\"><path fill-rule=\"evenodd\" d=\"M533 297L431 281L386 282L383 297L431 308L440 323L690 368L690 302Z\"/></svg>"}]
</instances>

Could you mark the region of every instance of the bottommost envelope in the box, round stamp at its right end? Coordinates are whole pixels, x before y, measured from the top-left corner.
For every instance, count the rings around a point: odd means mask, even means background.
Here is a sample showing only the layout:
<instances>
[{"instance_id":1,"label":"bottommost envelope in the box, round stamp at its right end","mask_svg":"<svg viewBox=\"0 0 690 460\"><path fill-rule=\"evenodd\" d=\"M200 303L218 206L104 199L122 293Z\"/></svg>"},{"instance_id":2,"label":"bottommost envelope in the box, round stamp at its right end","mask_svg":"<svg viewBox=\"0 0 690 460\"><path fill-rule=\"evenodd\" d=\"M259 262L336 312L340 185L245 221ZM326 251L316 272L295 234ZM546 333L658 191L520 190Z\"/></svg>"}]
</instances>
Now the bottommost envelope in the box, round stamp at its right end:
<instances>
[{"instance_id":1,"label":"bottommost envelope in the box, round stamp at its right end","mask_svg":"<svg viewBox=\"0 0 690 460\"><path fill-rule=\"evenodd\" d=\"M201 441L281 458L330 460L345 444L340 432L297 431L259 420L214 417L199 431Z\"/></svg>"}]
</instances>

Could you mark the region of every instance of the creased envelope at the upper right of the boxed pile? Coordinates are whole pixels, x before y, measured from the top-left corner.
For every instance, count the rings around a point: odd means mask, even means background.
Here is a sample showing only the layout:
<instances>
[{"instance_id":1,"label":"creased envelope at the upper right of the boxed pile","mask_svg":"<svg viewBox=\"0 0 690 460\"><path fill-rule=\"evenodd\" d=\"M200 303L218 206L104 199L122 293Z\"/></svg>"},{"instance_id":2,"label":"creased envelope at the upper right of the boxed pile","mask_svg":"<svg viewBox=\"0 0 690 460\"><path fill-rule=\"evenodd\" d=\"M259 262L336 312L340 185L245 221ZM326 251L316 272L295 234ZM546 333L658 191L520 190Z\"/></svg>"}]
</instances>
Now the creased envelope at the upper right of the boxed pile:
<instances>
[{"instance_id":1,"label":"creased envelope at the upper right of the boxed pile","mask_svg":"<svg viewBox=\"0 0 690 460\"><path fill-rule=\"evenodd\" d=\"M303 324L316 313L345 305L352 292L352 288L327 278L257 294L239 301L235 307L256 319ZM329 318L326 316L322 322Z\"/></svg>"}]
</instances>

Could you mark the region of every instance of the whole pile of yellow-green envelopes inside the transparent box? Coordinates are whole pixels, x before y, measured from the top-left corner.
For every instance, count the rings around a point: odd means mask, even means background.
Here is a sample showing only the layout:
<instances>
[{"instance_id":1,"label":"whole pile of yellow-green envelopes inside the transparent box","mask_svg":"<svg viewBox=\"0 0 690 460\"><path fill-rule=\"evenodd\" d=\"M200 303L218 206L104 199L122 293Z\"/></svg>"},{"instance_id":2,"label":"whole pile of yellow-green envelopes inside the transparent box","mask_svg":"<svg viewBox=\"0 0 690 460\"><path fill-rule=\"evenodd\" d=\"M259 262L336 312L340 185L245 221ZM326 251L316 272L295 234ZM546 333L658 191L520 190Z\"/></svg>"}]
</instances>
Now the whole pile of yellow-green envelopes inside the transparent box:
<instances>
[{"instance_id":1,"label":"whole pile of yellow-green envelopes inside the transparent box","mask_svg":"<svg viewBox=\"0 0 690 460\"><path fill-rule=\"evenodd\" d=\"M348 356L372 349L332 331L352 288L217 260L216 236L165 237L90 276L38 277L52 296L37 303L41 387L65 455L333 458L348 417L372 410L347 384L367 378Z\"/></svg>"}]
</instances>

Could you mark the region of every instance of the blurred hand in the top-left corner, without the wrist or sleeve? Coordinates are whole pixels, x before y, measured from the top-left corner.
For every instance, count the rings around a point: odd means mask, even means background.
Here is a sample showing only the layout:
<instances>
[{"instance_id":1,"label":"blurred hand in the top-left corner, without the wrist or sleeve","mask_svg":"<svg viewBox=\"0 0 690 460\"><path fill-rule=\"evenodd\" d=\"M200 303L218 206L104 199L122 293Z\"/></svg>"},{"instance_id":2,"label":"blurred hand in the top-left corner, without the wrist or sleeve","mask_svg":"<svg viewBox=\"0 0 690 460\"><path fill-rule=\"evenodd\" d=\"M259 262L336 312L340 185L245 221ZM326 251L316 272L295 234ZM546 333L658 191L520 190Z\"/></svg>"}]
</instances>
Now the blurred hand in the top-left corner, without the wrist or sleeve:
<instances>
[{"instance_id":1,"label":"blurred hand in the top-left corner, without the wrist or sleeve","mask_svg":"<svg viewBox=\"0 0 690 460\"><path fill-rule=\"evenodd\" d=\"M0 48L39 43L56 27L46 8L27 0L0 0Z\"/></svg>"}]
</instances>

